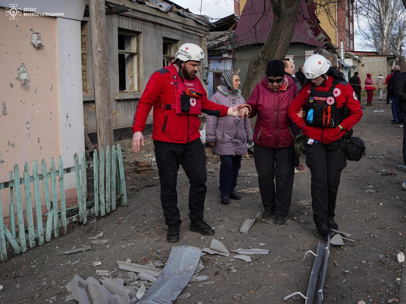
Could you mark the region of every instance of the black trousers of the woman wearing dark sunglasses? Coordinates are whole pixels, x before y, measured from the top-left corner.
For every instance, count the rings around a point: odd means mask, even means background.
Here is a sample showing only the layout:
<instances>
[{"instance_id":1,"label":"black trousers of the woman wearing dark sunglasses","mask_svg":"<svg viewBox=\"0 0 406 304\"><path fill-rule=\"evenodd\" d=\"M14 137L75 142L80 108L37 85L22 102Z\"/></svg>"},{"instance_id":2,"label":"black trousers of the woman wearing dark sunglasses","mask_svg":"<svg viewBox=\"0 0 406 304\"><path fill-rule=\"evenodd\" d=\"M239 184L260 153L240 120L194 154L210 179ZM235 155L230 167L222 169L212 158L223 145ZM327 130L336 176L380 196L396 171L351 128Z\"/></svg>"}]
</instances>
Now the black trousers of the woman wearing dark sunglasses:
<instances>
[{"instance_id":1,"label":"black trousers of the woman wearing dark sunglasses","mask_svg":"<svg viewBox=\"0 0 406 304\"><path fill-rule=\"evenodd\" d=\"M289 213L295 175L295 155L294 147L267 148L255 143L254 161L265 210L285 216Z\"/></svg>"}]
</instances>

